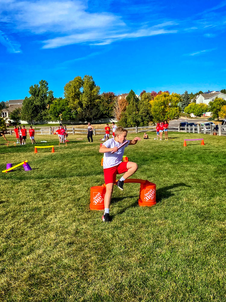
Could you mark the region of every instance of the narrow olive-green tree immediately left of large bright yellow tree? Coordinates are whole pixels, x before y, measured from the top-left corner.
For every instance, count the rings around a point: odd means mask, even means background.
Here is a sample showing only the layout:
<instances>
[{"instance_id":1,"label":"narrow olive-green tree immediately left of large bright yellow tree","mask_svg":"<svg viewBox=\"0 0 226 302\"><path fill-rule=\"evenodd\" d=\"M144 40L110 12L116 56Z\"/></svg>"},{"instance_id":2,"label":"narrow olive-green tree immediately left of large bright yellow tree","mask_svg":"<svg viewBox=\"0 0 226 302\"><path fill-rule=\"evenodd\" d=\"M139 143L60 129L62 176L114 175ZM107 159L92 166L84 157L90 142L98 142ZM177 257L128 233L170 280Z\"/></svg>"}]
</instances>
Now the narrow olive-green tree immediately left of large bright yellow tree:
<instances>
[{"instance_id":1,"label":"narrow olive-green tree immediately left of large bright yellow tree","mask_svg":"<svg viewBox=\"0 0 226 302\"><path fill-rule=\"evenodd\" d=\"M151 104L149 95L144 92L141 96L141 100L138 102L138 120L139 126L148 126L149 122L152 120L151 115Z\"/></svg>"}]
</instances>

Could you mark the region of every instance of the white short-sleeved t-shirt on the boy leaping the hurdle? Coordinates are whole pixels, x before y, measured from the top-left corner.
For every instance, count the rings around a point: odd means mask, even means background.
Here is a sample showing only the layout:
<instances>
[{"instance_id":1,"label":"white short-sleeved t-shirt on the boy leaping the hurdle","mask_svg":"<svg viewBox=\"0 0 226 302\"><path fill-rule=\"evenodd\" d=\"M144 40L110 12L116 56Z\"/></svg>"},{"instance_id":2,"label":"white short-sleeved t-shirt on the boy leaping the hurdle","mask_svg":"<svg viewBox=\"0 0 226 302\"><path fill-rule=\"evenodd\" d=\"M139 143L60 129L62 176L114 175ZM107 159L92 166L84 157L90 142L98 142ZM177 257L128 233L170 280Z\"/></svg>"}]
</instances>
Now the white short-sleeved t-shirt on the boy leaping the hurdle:
<instances>
[{"instance_id":1,"label":"white short-sleeved t-shirt on the boy leaping the hurdle","mask_svg":"<svg viewBox=\"0 0 226 302\"><path fill-rule=\"evenodd\" d=\"M105 147L107 148L114 148L121 145L121 143L116 142L114 138L110 138L110 140L107 140L105 143L103 143L103 145L105 145ZM113 154L111 154L111 152L105 152L104 160L103 160L103 168L107 169L119 165L124 154L124 149L128 145L129 142Z\"/></svg>"}]
</instances>

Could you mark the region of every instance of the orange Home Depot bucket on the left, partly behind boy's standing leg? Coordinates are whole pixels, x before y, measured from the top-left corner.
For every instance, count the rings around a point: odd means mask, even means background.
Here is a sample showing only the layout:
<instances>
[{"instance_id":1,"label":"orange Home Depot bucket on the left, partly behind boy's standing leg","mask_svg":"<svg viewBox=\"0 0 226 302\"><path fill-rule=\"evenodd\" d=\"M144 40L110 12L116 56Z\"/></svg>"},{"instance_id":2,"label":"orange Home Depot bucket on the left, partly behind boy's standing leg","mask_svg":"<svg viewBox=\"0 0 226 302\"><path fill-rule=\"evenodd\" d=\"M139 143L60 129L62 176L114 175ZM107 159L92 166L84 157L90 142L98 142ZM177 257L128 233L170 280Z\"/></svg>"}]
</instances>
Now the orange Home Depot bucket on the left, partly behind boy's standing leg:
<instances>
[{"instance_id":1,"label":"orange Home Depot bucket on the left, partly behind boy's standing leg","mask_svg":"<svg viewBox=\"0 0 226 302\"><path fill-rule=\"evenodd\" d=\"M104 195L106 186L96 186L90 188L90 210L104 210Z\"/></svg>"}]
</instances>

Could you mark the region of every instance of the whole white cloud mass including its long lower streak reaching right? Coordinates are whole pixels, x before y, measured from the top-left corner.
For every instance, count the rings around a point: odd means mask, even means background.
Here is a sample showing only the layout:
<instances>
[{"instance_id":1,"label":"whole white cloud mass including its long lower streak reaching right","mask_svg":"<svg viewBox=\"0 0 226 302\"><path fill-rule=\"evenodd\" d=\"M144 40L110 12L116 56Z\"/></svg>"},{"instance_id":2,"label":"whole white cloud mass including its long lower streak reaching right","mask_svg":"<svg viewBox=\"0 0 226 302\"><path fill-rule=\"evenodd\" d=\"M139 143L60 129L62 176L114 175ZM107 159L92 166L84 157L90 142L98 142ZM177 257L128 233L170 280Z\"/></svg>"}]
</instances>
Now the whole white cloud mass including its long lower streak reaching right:
<instances>
[{"instance_id":1,"label":"whole white cloud mass including its long lower streak reaching right","mask_svg":"<svg viewBox=\"0 0 226 302\"><path fill-rule=\"evenodd\" d=\"M87 3L79 0L1 0L0 21L13 32L51 35L42 41L43 48L75 43L107 45L116 40L177 32L172 29L177 25L174 21L156 22L151 27L136 24L129 27L116 14L90 13Z\"/></svg>"}]
</instances>

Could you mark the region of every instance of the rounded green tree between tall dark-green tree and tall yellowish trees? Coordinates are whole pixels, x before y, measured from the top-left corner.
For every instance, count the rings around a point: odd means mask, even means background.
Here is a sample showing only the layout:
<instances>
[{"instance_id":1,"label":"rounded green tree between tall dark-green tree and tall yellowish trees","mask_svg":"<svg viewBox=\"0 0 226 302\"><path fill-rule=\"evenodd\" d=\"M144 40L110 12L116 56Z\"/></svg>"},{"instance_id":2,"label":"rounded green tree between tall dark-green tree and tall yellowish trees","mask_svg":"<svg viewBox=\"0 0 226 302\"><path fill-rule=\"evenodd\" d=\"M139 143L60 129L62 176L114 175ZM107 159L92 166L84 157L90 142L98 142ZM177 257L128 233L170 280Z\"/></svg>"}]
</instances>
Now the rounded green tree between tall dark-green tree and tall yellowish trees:
<instances>
[{"instance_id":1,"label":"rounded green tree between tall dark-green tree and tall yellowish trees","mask_svg":"<svg viewBox=\"0 0 226 302\"><path fill-rule=\"evenodd\" d=\"M63 120L71 120L71 108L68 106L68 101L65 98L55 98L49 107L49 115L52 120L59 120L59 115L62 114Z\"/></svg>"}]
</instances>

